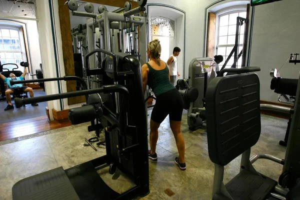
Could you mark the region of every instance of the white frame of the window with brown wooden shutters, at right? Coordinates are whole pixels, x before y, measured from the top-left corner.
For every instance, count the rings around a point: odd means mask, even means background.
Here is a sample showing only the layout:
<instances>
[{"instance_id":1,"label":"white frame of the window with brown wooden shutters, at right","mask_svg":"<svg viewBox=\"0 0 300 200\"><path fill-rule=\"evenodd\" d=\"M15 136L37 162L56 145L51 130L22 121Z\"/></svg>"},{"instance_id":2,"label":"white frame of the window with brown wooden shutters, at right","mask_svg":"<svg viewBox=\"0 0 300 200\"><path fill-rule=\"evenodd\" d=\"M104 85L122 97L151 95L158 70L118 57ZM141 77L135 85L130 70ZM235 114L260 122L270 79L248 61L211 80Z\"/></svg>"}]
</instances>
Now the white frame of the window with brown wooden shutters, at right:
<instances>
[{"instance_id":1,"label":"white frame of the window with brown wooden shutters, at right","mask_svg":"<svg viewBox=\"0 0 300 200\"><path fill-rule=\"evenodd\" d=\"M220 45L218 44L218 42L219 42L220 17L225 16L225 15L229 15L229 14L233 14L233 13L239 13L239 12L247 12L247 6L245 5L245 7L241 7L241 6L228 7L228 8L224 8L224 9L222 9L222 10L215 13L216 14L215 45L214 45L215 54L218 54L217 53L217 48L218 47L233 47L234 46L234 44L220 44ZM228 24L228 26L229 26L229 24ZM227 32L226 36L228 36L228 32ZM228 40L227 40L227 42L228 42ZM242 46L243 46L243 42L238 44L238 47L242 47ZM225 60L226 60L226 55L223 57L223 61L221 63L223 63ZM237 67L239 68L240 66L237 65Z\"/></svg>"}]
</instances>

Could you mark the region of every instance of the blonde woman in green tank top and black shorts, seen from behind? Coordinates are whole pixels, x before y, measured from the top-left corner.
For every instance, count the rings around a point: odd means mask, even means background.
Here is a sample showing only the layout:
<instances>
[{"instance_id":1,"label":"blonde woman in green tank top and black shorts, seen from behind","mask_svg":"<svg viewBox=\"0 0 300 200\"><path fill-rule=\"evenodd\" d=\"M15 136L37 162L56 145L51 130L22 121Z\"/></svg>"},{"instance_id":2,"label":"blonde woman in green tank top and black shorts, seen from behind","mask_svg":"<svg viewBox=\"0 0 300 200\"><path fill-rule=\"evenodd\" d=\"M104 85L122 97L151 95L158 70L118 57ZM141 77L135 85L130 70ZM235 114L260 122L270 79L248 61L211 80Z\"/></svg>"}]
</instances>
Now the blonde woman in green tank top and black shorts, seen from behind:
<instances>
[{"instance_id":1,"label":"blonde woman in green tank top and black shorts, seen from behind","mask_svg":"<svg viewBox=\"0 0 300 200\"><path fill-rule=\"evenodd\" d=\"M149 85L153 90L156 102L151 113L150 120L150 150L148 157L157 160L156 143L158 139L158 127L169 115L171 130L174 134L179 156L175 157L175 163L181 170L186 169L184 161L184 139L181 133L181 116L183 99L179 91L170 82L170 71L167 64L160 59L161 45L158 39L148 43L147 55L149 61L141 66L143 90Z\"/></svg>"}]
</instances>

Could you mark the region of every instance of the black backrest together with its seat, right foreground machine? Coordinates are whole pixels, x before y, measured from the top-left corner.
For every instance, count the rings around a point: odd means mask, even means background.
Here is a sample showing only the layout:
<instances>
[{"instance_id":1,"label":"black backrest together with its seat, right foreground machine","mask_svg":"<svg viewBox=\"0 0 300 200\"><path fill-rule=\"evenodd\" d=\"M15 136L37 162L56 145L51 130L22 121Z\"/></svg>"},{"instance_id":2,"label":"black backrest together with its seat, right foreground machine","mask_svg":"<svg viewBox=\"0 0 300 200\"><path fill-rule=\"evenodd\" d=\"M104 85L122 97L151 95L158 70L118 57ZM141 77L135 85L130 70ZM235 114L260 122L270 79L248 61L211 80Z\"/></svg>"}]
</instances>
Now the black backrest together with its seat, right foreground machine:
<instances>
[{"instance_id":1,"label":"black backrest together with its seat, right foreground machine","mask_svg":"<svg viewBox=\"0 0 300 200\"><path fill-rule=\"evenodd\" d=\"M208 84L205 100L208 153L211 161L222 168L215 171L221 171L260 136L258 76L248 73L216 77ZM215 181L222 180L219 174L215 172ZM233 199L264 199L276 184L255 170L241 167L225 187ZM213 199L229 198L219 191Z\"/></svg>"}]
</instances>

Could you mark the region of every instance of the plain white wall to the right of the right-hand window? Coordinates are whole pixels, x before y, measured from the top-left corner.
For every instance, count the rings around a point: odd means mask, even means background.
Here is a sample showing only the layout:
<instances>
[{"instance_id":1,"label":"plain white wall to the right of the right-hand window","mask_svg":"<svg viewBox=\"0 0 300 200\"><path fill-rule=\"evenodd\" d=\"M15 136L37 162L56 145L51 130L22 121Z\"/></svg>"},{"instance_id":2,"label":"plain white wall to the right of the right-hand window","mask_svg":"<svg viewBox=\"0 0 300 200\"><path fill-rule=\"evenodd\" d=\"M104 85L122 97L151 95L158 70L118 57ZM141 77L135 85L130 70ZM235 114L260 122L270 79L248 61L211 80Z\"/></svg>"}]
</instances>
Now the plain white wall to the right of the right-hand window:
<instances>
[{"instance_id":1,"label":"plain white wall to the right of the right-hand window","mask_svg":"<svg viewBox=\"0 0 300 200\"><path fill-rule=\"evenodd\" d=\"M250 66L260 66L260 99L277 101L270 90L271 68L280 68L290 53L300 52L300 4L298 0L278 1L255 6ZM281 77L298 78L300 64L286 63Z\"/></svg>"}]
</instances>

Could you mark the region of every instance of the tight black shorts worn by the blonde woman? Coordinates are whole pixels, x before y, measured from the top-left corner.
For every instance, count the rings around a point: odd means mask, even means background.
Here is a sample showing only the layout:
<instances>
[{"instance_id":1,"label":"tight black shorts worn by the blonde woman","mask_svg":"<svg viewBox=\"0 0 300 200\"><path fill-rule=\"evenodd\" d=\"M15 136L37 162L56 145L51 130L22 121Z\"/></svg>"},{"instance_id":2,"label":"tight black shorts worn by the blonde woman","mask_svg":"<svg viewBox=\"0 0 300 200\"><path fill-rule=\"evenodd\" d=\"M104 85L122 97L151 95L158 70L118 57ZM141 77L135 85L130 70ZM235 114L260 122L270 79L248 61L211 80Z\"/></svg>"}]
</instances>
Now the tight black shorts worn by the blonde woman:
<instances>
[{"instance_id":1,"label":"tight black shorts worn by the blonde woman","mask_svg":"<svg viewBox=\"0 0 300 200\"><path fill-rule=\"evenodd\" d=\"M161 123L167 115L172 121L181 121L183 99L179 91L174 88L156 96L156 102L151 113L151 119Z\"/></svg>"}]
</instances>

